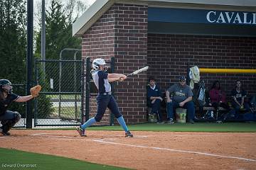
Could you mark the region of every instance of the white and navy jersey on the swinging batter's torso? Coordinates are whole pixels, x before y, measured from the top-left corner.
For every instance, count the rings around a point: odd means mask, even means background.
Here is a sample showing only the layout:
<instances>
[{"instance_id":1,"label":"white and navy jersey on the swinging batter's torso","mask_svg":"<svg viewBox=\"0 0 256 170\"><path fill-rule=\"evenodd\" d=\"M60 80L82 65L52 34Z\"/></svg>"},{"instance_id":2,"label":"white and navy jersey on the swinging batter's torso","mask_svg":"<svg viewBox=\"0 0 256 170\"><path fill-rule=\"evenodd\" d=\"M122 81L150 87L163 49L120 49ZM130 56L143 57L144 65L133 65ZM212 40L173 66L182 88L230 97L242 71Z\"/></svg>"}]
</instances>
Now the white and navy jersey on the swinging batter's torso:
<instances>
[{"instance_id":1,"label":"white and navy jersey on the swinging batter's torso","mask_svg":"<svg viewBox=\"0 0 256 170\"><path fill-rule=\"evenodd\" d=\"M92 72L92 79L97 86L99 93L108 93L111 91L110 83L107 79L107 73L103 72L102 70L93 71Z\"/></svg>"}]
</instances>

